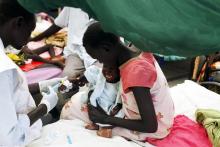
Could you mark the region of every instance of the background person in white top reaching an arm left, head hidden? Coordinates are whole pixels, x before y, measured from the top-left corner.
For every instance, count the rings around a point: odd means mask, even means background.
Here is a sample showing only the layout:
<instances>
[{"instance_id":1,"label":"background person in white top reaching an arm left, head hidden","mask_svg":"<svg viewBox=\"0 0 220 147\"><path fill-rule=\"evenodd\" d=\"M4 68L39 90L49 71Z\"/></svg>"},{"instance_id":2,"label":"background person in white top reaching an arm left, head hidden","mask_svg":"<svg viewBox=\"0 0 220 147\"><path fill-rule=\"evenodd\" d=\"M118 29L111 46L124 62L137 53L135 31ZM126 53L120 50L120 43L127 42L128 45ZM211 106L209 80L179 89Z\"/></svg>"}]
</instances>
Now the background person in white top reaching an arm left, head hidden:
<instances>
[{"instance_id":1,"label":"background person in white top reaching an arm left, head hidden","mask_svg":"<svg viewBox=\"0 0 220 147\"><path fill-rule=\"evenodd\" d=\"M82 75L85 68L96 60L92 59L82 46L82 37L87 26L92 22L89 16L79 8L64 7L54 24L30 41L39 41L49 37L64 27L68 27L67 45L64 48L65 67L63 77L75 79Z\"/></svg>"}]
</instances>

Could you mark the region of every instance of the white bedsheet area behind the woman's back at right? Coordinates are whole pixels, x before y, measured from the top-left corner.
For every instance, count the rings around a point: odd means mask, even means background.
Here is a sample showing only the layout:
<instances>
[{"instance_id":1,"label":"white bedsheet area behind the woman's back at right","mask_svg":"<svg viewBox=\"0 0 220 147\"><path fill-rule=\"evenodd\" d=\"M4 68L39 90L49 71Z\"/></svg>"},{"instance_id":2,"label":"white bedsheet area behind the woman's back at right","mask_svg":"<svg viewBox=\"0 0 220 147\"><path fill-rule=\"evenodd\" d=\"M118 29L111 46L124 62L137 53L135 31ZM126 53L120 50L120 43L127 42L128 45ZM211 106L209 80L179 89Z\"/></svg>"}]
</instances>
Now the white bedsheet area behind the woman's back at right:
<instances>
[{"instance_id":1,"label":"white bedsheet area behind the woman's back at right","mask_svg":"<svg viewBox=\"0 0 220 147\"><path fill-rule=\"evenodd\" d=\"M220 111L220 95L186 80L184 83L171 88L171 95L175 105L175 115L184 114L195 120L198 108L215 109Z\"/></svg>"}]
</instances>

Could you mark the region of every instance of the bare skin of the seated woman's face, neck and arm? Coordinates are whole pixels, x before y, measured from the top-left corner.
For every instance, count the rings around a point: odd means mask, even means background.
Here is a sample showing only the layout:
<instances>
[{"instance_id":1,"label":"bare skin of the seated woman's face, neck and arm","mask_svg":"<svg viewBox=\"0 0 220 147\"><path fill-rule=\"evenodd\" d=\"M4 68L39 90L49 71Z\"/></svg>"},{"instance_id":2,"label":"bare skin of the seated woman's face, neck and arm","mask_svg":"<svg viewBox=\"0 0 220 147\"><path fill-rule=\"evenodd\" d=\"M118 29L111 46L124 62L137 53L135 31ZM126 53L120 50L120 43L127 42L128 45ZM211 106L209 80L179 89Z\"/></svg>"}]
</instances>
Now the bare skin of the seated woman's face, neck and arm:
<instances>
[{"instance_id":1,"label":"bare skin of the seated woman's face, neck and arm","mask_svg":"<svg viewBox=\"0 0 220 147\"><path fill-rule=\"evenodd\" d=\"M129 50L120 41L117 44L111 42L102 42L98 47L93 49L85 46L86 51L91 57L99 60L105 66L118 69L120 65L129 59L136 57L139 53ZM88 106L90 120L94 123L111 124L127 128L129 130L154 133L157 131L158 122L155 109L150 94L150 88L146 87L130 87L135 96L135 100L141 116L140 120L129 120L108 116L92 105Z\"/></svg>"}]
</instances>

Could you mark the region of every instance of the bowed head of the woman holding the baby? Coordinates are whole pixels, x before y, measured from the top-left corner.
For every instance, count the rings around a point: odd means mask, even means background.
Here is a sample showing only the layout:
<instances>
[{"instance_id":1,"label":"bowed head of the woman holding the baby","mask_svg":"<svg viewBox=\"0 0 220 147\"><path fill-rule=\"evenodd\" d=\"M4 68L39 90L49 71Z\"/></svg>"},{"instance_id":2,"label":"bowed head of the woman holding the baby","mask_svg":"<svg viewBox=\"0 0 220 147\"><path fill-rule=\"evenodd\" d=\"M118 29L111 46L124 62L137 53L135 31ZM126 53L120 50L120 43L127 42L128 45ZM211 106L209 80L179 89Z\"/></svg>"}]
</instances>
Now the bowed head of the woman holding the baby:
<instances>
[{"instance_id":1,"label":"bowed head of the woman holding the baby","mask_svg":"<svg viewBox=\"0 0 220 147\"><path fill-rule=\"evenodd\" d=\"M99 62L114 67L119 56L118 36L104 32L99 23L90 25L83 37L83 45L87 53Z\"/></svg>"}]
</instances>

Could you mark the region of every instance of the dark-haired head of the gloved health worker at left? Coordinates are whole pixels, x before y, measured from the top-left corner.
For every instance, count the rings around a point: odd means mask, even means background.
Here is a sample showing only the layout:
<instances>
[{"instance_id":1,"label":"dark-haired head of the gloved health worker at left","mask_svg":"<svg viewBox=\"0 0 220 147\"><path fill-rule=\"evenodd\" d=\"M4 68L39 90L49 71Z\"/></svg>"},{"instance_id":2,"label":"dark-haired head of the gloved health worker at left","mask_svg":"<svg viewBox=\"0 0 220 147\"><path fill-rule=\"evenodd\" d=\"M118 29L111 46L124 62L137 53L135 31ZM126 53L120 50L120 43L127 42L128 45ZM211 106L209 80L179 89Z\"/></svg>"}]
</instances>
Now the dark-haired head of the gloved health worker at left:
<instances>
[{"instance_id":1,"label":"dark-haired head of the gloved health worker at left","mask_svg":"<svg viewBox=\"0 0 220 147\"><path fill-rule=\"evenodd\" d=\"M34 14L22 8L17 0L0 0L0 37L5 46L20 49L34 28Z\"/></svg>"}]
</instances>

